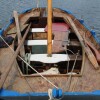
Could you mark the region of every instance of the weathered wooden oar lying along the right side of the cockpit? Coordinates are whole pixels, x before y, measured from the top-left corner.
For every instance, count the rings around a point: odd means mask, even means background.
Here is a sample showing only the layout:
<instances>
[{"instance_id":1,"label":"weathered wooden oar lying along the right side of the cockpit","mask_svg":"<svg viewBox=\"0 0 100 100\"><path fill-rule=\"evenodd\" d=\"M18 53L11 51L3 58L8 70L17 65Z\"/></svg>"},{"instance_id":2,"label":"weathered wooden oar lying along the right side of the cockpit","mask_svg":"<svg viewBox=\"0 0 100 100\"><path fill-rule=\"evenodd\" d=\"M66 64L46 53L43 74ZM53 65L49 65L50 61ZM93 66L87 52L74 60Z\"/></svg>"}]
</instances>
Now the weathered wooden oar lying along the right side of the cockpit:
<instances>
[{"instance_id":1,"label":"weathered wooden oar lying along the right side of the cockpit","mask_svg":"<svg viewBox=\"0 0 100 100\"><path fill-rule=\"evenodd\" d=\"M91 49L88 47L88 45L84 44L85 41L84 41L84 39L82 38L82 36L80 35L80 33L79 33L77 27L75 26L73 20L72 20L69 16L64 17L64 19L66 19L66 20L70 23L72 29L75 31L75 34L77 35L77 37L78 37L78 39L79 39L79 41L80 41L80 43L81 43L83 49L85 50L85 52L86 52L86 54L87 54L87 56L88 56L90 62L91 62L92 65L94 66L94 68L95 68L95 69L99 69L99 65L98 65L98 62L97 62L97 60L96 60L94 54L92 53L92 51L91 51Z\"/></svg>"}]
</instances>

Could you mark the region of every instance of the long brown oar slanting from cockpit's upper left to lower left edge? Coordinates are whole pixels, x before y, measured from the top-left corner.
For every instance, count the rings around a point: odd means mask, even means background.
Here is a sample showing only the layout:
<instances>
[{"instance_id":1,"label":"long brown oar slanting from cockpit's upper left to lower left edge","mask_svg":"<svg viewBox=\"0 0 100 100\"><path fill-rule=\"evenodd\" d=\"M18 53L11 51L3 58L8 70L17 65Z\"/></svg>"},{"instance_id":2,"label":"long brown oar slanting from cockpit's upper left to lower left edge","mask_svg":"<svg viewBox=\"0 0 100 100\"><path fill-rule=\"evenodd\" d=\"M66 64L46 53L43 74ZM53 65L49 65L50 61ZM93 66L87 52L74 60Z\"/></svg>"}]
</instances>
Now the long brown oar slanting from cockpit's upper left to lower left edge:
<instances>
[{"instance_id":1,"label":"long brown oar slanting from cockpit's upper left to lower left edge","mask_svg":"<svg viewBox=\"0 0 100 100\"><path fill-rule=\"evenodd\" d=\"M12 68L12 65L13 65L16 57L18 56L18 53L20 52L20 49L22 48L22 45L24 44L25 38L26 38L26 36L27 36L27 34L28 34L29 30L30 30L30 26L31 26L31 24L28 26L28 28L27 28L27 30L26 30L26 32L25 32L20 44L18 45L16 51L14 52L14 54L12 56L12 59L10 59L10 62L8 62L8 64L6 66L4 66L5 71L3 72L3 74L1 74L0 88L3 87L3 84L4 84L8 74L9 74L11 68Z\"/></svg>"}]
</instances>

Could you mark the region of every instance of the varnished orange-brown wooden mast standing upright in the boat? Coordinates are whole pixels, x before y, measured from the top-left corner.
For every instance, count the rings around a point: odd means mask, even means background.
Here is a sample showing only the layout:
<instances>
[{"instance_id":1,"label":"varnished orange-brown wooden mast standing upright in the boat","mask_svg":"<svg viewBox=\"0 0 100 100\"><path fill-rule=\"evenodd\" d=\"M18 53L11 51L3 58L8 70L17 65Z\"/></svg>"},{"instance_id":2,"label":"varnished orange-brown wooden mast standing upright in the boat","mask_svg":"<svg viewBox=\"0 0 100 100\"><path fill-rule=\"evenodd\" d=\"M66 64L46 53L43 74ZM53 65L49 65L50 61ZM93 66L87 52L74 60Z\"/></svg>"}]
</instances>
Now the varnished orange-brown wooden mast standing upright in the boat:
<instances>
[{"instance_id":1,"label":"varnished orange-brown wooden mast standing upright in the boat","mask_svg":"<svg viewBox=\"0 0 100 100\"><path fill-rule=\"evenodd\" d=\"M48 0L48 40L47 53L48 57L52 56L52 0Z\"/></svg>"}]
</instances>

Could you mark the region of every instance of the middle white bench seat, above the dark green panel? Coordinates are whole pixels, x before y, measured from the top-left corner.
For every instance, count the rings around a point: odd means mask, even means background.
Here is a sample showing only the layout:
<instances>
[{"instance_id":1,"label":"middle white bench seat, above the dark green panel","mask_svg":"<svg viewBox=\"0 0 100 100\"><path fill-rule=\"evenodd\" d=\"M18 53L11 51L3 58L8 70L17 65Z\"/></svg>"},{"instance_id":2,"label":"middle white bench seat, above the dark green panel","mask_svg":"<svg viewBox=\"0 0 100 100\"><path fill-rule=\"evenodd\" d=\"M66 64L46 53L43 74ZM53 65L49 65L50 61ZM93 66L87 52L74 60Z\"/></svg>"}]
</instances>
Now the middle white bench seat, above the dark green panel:
<instances>
[{"instance_id":1,"label":"middle white bench seat, above the dark green panel","mask_svg":"<svg viewBox=\"0 0 100 100\"><path fill-rule=\"evenodd\" d=\"M52 40L53 44L53 40ZM26 40L25 45L33 46L33 45L47 45L47 40Z\"/></svg>"}]
</instances>

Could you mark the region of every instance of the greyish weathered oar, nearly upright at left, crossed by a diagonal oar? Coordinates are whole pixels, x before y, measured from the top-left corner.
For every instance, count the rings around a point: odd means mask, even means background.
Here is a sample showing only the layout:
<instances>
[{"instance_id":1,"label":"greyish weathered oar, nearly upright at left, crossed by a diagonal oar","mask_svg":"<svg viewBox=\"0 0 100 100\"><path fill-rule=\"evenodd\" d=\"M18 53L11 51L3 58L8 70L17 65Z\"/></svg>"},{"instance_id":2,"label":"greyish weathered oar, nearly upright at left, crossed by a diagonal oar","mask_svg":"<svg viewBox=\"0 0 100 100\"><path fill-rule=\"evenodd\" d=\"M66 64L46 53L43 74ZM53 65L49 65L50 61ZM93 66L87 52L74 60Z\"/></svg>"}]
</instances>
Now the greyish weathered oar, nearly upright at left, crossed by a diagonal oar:
<instances>
[{"instance_id":1,"label":"greyish weathered oar, nearly upright at left, crossed by a diagonal oar","mask_svg":"<svg viewBox=\"0 0 100 100\"><path fill-rule=\"evenodd\" d=\"M19 25L18 13L17 13L17 11L14 11L13 14L14 14L15 23L16 23L18 44L20 44L22 36L21 36L21 30L20 30L20 25ZM23 45L22 45L22 47L20 49L20 55L21 55L21 57L25 56L25 49L24 49Z\"/></svg>"}]
</instances>

